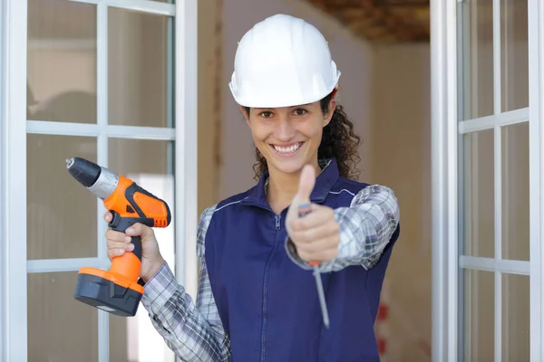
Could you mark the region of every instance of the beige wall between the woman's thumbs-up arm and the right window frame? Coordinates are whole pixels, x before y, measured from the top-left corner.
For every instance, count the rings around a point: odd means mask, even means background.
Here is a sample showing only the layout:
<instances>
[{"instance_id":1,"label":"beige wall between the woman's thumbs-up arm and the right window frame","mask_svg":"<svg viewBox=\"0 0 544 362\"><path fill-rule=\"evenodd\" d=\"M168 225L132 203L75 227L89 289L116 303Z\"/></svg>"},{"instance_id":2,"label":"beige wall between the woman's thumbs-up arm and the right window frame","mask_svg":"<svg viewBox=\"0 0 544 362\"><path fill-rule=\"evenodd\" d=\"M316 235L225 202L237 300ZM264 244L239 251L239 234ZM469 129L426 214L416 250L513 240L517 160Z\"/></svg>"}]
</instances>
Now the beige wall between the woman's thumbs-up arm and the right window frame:
<instances>
[{"instance_id":1,"label":"beige wall between the woman's thumbs-up arm and the right window frame","mask_svg":"<svg viewBox=\"0 0 544 362\"><path fill-rule=\"evenodd\" d=\"M431 360L429 49L429 44L374 47L369 182L392 187L401 209L401 237L384 281L391 361Z\"/></svg>"}]
</instances>

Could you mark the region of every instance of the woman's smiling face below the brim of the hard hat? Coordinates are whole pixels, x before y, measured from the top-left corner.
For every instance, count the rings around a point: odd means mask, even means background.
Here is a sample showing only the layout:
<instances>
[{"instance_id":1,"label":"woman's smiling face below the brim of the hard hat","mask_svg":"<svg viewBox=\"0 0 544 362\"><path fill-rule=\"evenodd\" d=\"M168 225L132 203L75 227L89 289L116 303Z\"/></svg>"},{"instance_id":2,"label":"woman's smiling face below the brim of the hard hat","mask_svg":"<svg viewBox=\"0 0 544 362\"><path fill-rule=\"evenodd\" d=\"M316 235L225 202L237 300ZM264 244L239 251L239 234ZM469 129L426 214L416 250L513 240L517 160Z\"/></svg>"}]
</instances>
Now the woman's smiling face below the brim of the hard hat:
<instances>
[{"instance_id":1,"label":"woman's smiling face below the brim of the hard hat","mask_svg":"<svg viewBox=\"0 0 544 362\"><path fill-rule=\"evenodd\" d=\"M329 110L334 109L332 100ZM242 108L242 113L271 172L293 174L306 164L317 166L323 128L333 114L324 113L319 101L296 107L252 108L249 114Z\"/></svg>"}]
</instances>

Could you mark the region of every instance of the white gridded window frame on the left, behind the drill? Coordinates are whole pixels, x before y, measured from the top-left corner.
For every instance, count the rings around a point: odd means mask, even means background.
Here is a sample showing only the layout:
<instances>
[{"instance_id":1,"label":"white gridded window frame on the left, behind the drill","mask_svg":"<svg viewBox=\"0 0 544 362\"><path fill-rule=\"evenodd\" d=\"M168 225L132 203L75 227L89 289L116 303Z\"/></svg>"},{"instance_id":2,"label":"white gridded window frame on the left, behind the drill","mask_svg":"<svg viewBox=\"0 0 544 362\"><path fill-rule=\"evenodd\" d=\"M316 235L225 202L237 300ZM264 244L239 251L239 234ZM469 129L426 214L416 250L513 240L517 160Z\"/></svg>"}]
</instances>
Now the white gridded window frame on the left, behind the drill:
<instances>
[{"instance_id":1,"label":"white gridded window frame on the left, behind the drill","mask_svg":"<svg viewBox=\"0 0 544 362\"><path fill-rule=\"evenodd\" d=\"M28 272L77 271L82 266L108 268L105 244L97 258L26 260L26 134L98 136L98 162L107 167L105 134L123 138L175 140L176 278L193 296L197 292L197 0L178 0L176 5L151 0L66 0L97 5L97 88L107 90L107 6L167 14L175 18L175 129L106 126L107 96L98 100L96 125L65 127L56 122L26 119L27 0L0 2L0 359L27 360ZM171 66L170 64L169 66ZM99 136L100 135L100 136ZM103 205L97 200L97 213ZM100 220L100 218L99 218ZM99 234L105 225L99 223ZM53 268L54 266L54 268ZM71 297L68 297L71 298ZM99 310L99 361L109 360L107 313Z\"/></svg>"}]
</instances>

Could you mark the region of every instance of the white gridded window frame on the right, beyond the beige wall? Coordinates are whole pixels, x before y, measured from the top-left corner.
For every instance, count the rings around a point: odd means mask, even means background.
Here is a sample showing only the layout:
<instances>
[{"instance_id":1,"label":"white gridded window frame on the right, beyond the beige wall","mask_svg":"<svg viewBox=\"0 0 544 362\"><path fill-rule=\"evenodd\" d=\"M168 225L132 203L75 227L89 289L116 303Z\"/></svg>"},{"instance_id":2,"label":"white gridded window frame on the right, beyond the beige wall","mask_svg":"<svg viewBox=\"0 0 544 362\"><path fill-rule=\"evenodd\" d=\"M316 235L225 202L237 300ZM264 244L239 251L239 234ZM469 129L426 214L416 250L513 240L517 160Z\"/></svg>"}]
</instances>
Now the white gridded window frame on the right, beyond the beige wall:
<instances>
[{"instance_id":1,"label":"white gridded window frame on the right, beyond the beige wall","mask_svg":"<svg viewBox=\"0 0 544 362\"><path fill-rule=\"evenodd\" d=\"M432 56L432 361L462 360L458 327L462 315L461 271L495 271L495 361L501 348L500 271L530 275L530 359L544 360L544 4L528 0L529 108L500 113L500 82L494 87L495 115L458 121L458 4L463 0L431 1ZM500 17L494 0L493 18ZM494 20L494 73L500 74L500 25ZM497 86L498 85L498 86ZM499 100L499 101L497 101ZM496 233L495 259L459 256L458 139L463 133L494 129L495 222L500 221L500 128L529 119L530 262L496 260L501 256ZM499 140L499 142L497 142ZM500 227L500 224L498 224ZM499 229L500 231L500 229ZM483 265L483 266L481 266Z\"/></svg>"}]
</instances>

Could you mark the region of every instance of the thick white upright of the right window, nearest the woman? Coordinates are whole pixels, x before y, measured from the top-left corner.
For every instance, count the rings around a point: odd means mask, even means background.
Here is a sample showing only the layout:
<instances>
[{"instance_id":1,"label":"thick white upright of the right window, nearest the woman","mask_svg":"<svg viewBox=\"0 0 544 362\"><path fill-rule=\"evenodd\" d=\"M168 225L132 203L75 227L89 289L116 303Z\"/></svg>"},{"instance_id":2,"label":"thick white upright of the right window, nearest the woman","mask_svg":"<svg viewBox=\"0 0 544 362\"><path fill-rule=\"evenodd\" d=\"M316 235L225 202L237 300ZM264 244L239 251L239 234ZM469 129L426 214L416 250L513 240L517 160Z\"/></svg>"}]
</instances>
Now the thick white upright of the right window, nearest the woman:
<instances>
[{"instance_id":1,"label":"thick white upright of the right window, nearest the woman","mask_svg":"<svg viewBox=\"0 0 544 362\"><path fill-rule=\"evenodd\" d=\"M457 360L456 6L431 1L432 361L439 362Z\"/></svg>"}]
</instances>

